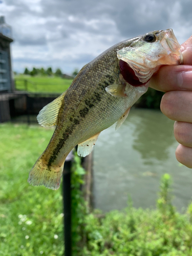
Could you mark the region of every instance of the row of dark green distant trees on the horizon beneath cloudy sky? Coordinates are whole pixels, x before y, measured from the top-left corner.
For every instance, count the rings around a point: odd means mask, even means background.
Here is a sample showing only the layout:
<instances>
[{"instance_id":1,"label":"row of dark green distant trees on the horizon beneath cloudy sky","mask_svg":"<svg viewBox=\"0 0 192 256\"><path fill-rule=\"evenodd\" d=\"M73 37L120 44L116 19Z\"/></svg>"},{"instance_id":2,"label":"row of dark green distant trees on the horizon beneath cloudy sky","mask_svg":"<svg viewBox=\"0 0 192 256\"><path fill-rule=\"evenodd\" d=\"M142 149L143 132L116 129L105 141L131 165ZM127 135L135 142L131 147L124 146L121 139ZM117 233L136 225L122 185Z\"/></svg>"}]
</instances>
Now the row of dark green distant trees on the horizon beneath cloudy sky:
<instances>
[{"instance_id":1,"label":"row of dark green distant trees on the horizon beneath cloudy sky","mask_svg":"<svg viewBox=\"0 0 192 256\"><path fill-rule=\"evenodd\" d=\"M75 77L76 75L78 74L78 70L75 69L72 73L72 76ZM62 76L63 73L62 71L58 68L56 69L55 72L53 72L52 68L49 67L47 69L44 69L44 68L35 68L33 67L32 70L30 71L28 68L25 68L24 70L24 75L30 75L30 76L36 76L36 75L41 75L41 76L52 76L52 75L55 75L55 76Z\"/></svg>"}]
</instances>

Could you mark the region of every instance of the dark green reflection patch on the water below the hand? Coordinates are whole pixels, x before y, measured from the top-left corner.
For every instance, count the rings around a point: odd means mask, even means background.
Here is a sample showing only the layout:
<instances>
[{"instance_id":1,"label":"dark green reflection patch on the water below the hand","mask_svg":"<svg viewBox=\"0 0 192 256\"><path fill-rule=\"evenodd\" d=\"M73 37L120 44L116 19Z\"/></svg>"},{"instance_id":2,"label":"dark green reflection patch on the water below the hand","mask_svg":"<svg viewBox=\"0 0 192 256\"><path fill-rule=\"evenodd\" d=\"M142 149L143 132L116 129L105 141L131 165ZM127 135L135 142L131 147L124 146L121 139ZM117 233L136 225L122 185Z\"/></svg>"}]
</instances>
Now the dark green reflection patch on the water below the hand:
<instances>
[{"instance_id":1,"label":"dark green reflection patch on the water below the hand","mask_svg":"<svg viewBox=\"0 0 192 256\"><path fill-rule=\"evenodd\" d=\"M144 163L149 164L153 158L168 159L168 148L175 143L174 121L152 110L135 110L130 121L135 124L133 148L141 153Z\"/></svg>"}]
</instances>

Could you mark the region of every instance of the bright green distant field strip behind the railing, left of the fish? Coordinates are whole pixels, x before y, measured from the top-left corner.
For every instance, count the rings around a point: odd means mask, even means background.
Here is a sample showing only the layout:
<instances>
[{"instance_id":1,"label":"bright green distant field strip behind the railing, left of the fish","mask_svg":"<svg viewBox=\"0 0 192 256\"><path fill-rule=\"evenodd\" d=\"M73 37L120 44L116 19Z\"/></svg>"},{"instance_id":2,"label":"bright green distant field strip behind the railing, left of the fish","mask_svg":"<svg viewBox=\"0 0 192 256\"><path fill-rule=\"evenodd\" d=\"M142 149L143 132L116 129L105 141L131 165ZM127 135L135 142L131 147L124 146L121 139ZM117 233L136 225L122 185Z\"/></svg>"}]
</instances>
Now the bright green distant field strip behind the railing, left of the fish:
<instances>
[{"instance_id":1,"label":"bright green distant field strip behind the railing, left of the fish","mask_svg":"<svg viewBox=\"0 0 192 256\"><path fill-rule=\"evenodd\" d=\"M29 75L16 75L14 79L16 90L54 93L65 92L73 81L73 79L65 79L56 76Z\"/></svg>"}]
</instances>

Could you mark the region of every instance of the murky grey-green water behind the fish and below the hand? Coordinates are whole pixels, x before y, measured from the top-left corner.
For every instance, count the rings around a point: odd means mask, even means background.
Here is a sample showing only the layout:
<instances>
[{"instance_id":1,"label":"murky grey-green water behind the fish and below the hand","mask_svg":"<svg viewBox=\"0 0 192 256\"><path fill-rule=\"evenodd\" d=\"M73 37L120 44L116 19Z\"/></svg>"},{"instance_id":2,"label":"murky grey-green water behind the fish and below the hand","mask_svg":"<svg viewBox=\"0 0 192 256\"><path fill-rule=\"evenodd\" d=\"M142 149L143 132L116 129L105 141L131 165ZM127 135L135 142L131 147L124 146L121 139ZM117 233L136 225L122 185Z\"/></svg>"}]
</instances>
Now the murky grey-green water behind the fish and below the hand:
<instances>
[{"instance_id":1,"label":"murky grey-green water behind the fish and below the hand","mask_svg":"<svg viewBox=\"0 0 192 256\"><path fill-rule=\"evenodd\" d=\"M94 149L95 208L126 207L128 195L135 207L156 205L160 178L173 178L173 203L187 207L192 196L191 169L175 157L178 142L174 121L160 111L132 109L121 127L103 131Z\"/></svg>"}]
</instances>

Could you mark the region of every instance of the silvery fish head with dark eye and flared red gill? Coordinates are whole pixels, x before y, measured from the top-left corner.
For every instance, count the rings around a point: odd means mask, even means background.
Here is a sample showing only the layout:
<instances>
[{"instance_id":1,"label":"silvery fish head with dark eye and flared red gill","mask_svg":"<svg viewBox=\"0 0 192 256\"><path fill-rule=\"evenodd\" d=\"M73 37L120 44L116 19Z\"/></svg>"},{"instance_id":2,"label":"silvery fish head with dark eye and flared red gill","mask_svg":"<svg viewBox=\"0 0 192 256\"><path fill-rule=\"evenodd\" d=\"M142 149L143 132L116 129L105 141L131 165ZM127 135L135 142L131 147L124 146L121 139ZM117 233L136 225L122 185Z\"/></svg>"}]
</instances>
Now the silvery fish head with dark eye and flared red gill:
<instances>
[{"instance_id":1,"label":"silvery fish head with dark eye and flared red gill","mask_svg":"<svg viewBox=\"0 0 192 256\"><path fill-rule=\"evenodd\" d=\"M179 65L181 46L172 29L149 32L117 50L120 72L132 86L144 86L162 65Z\"/></svg>"}]
</instances>

